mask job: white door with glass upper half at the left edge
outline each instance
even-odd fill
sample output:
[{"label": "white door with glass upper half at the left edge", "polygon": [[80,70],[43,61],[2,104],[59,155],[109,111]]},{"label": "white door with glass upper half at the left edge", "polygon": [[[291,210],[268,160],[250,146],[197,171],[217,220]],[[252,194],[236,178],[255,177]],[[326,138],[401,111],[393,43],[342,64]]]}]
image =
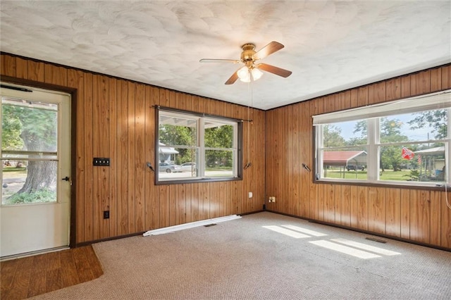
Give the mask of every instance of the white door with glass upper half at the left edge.
[{"label": "white door with glass upper half at the left edge", "polygon": [[70,94],[2,83],[0,108],[0,256],[68,246]]}]

